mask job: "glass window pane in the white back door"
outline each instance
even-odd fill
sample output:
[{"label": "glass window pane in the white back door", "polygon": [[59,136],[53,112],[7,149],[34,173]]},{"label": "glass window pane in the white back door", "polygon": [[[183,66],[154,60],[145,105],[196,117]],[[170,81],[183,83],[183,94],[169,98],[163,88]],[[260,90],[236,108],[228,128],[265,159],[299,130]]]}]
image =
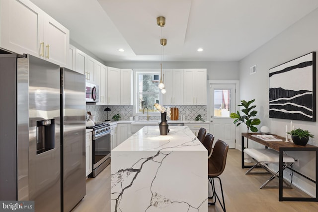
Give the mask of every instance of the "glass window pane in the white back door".
[{"label": "glass window pane in the white back door", "polygon": [[231,90],[214,90],[214,117],[230,117],[231,113]]}]

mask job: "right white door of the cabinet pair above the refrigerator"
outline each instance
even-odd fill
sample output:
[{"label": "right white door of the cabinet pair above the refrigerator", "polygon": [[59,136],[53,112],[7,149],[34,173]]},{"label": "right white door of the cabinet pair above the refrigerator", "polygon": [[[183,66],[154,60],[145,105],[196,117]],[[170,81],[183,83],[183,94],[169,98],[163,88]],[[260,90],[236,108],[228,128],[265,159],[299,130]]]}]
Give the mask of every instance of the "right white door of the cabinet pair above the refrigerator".
[{"label": "right white door of the cabinet pair above the refrigerator", "polygon": [[45,60],[65,67],[70,47],[70,31],[48,14],[44,14]]}]

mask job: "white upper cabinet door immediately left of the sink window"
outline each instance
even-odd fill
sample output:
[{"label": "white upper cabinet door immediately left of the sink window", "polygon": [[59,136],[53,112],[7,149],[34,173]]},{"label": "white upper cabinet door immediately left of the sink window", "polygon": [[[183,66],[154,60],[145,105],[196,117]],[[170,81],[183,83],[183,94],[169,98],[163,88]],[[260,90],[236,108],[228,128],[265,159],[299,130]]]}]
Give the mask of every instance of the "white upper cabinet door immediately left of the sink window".
[{"label": "white upper cabinet door immediately left of the sink window", "polygon": [[120,103],[121,105],[133,105],[133,70],[122,69],[120,76]]}]

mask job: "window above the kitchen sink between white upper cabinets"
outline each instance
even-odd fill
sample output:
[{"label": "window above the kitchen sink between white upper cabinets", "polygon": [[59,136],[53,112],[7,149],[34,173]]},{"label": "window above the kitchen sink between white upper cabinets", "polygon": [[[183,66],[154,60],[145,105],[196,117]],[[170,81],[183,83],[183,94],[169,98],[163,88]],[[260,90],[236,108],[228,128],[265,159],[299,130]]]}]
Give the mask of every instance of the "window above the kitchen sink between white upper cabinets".
[{"label": "window above the kitchen sink between white upper cabinets", "polygon": [[142,113],[144,107],[147,107],[149,112],[158,112],[154,104],[159,103],[160,98],[159,74],[159,72],[137,72],[137,113]]}]

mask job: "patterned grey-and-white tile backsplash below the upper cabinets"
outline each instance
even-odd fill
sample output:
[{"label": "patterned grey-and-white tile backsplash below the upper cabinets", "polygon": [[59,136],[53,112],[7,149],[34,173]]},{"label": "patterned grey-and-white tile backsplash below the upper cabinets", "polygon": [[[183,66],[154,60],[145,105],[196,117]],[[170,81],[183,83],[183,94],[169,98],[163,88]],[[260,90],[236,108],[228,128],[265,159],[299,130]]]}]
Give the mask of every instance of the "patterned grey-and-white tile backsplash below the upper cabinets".
[{"label": "patterned grey-and-white tile backsplash below the upper cabinets", "polygon": [[[95,115],[95,122],[102,122],[107,119],[107,112],[104,111],[106,107],[109,107],[111,111],[108,112],[108,119],[119,113],[120,120],[129,120],[129,117],[133,116],[133,106],[104,106],[104,105],[89,105],[86,104],[86,111],[90,111],[92,115]],[[204,120],[207,116],[207,106],[205,105],[189,105],[189,106],[165,106],[165,107],[177,107],[179,108],[179,120],[181,120],[182,115],[184,115],[185,120],[194,121],[197,115],[201,115]],[[146,116],[139,116],[139,120],[146,120]],[[151,116],[150,120],[159,120],[159,116]],[[135,120],[135,118],[134,118]],[[113,121],[113,120],[112,120]]]}]

